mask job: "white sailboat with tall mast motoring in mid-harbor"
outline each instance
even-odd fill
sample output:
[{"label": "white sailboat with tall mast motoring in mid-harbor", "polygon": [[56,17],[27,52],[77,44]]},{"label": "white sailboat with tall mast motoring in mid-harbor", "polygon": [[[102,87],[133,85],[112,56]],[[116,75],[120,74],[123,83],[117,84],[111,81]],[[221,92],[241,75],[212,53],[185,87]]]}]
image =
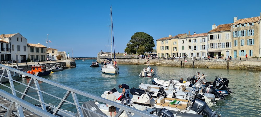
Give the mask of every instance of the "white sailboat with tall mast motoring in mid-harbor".
[{"label": "white sailboat with tall mast motoring in mid-harbor", "polygon": [[[107,58],[110,62],[107,64],[104,63],[104,66],[102,66],[101,70],[103,73],[108,74],[117,74],[119,73],[119,67],[116,64],[115,59],[115,50],[114,50],[114,35],[113,35],[113,25],[112,25],[112,12],[110,11],[110,18],[111,18],[111,58]],[[113,40],[113,53],[114,53],[114,61],[112,62],[112,40]]]}]

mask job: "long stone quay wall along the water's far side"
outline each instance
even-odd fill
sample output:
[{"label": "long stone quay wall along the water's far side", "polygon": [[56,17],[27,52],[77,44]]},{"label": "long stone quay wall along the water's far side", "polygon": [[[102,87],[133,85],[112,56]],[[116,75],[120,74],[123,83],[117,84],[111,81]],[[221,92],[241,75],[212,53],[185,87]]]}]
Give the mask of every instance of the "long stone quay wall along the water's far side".
[{"label": "long stone quay wall along the water's far side", "polygon": [[[110,56],[97,56],[99,63]],[[115,56],[117,64],[144,65],[146,59],[139,56]],[[108,61],[108,60],[106,60]],[[200,67],[200,68],[220,68],[238,70],[261,70],[261,60],[163,60],[149,59],[149,64],[155,66],[174,66],[174,67]]]}]

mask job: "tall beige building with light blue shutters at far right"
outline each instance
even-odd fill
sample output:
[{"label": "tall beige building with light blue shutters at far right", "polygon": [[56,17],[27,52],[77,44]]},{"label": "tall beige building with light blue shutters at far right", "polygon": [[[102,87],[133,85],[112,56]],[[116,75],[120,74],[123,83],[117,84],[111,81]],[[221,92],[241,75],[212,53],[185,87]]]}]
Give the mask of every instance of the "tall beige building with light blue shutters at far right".
[{"label": "tall beige building with light blue shutters at far right", "polygon": [[[260,13],[261,16],[261,13]],[[232,47],[234,58],[260,57],[260,16],[237,20],[234,17],[232,27]]]}]

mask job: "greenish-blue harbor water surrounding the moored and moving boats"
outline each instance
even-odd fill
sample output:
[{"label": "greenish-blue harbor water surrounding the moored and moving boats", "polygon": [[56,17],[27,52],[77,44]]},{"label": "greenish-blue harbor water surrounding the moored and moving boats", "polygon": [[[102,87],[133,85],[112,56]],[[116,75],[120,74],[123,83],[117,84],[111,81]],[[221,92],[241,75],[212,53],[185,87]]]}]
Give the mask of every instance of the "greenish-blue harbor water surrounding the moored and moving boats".
[{"label": "greenish-blue harbor water surrounding the moored and moving boats", "polygon": [[[79,90],[100,96],[104,91],[118,88],[119,84],[127,84],[130,88],[138,87],[140,83],[152,84],[153,78],[162,80],[183,78],[186,80],[192,77],[196,72],[204,73],[207,81],[214,81],[216,76],[228,78],[229,88],[233,93],[229,94],[224,100],[216,103],[211,107],[214,111],[222,116],[261,116],[261,72],[254,70],[227,70],[227,69],[209,69],[209,68],[190,68],[190,67],[166,67],[166,66],[150,66],[155,70],[152,78],[140,78],[139,73],[146,65],[123,65],[119,64],[119,74],[111,75],[101,72],[100,67],[90,67],[92,60],[76,60],[77,67],[69,68],[64,71],[54,72],[43,78],[67,85]],[[23,83],[27,83],[28,79],[21,79]],[[15,84],[16,87],[19,84]],[[45,87],[45,84],[39,83],[43,91],[55,91],[59,97],[63,97],[66,91],[62,91],[52,87]],[[29,92],[30,93],[30,92]],[[37,95],[37,94],[36,94]],[[86,97],[77,97],[79,102],[91,100]],[[48,100],[49,99],[49,100]],[[68,98],[68,100],[72,100]],[[55,104],[59,103],[52,98],[45,99],[45,102]],[[63,109],[69,111],[72,107],[63,106]]]}]

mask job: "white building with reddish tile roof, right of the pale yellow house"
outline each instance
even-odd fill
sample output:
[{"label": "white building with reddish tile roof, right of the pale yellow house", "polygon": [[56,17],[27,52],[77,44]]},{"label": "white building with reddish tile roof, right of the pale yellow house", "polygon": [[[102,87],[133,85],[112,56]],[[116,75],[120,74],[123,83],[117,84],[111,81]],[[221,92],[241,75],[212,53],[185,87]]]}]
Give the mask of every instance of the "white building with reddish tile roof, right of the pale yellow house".
[{"label": "white building with reddish tile roof, right of the pale yellow house", "polygon": [[188,57],[204,58],[207,54],[207,33],[200,33],[186,38],[187,47],[184,49]]}]

